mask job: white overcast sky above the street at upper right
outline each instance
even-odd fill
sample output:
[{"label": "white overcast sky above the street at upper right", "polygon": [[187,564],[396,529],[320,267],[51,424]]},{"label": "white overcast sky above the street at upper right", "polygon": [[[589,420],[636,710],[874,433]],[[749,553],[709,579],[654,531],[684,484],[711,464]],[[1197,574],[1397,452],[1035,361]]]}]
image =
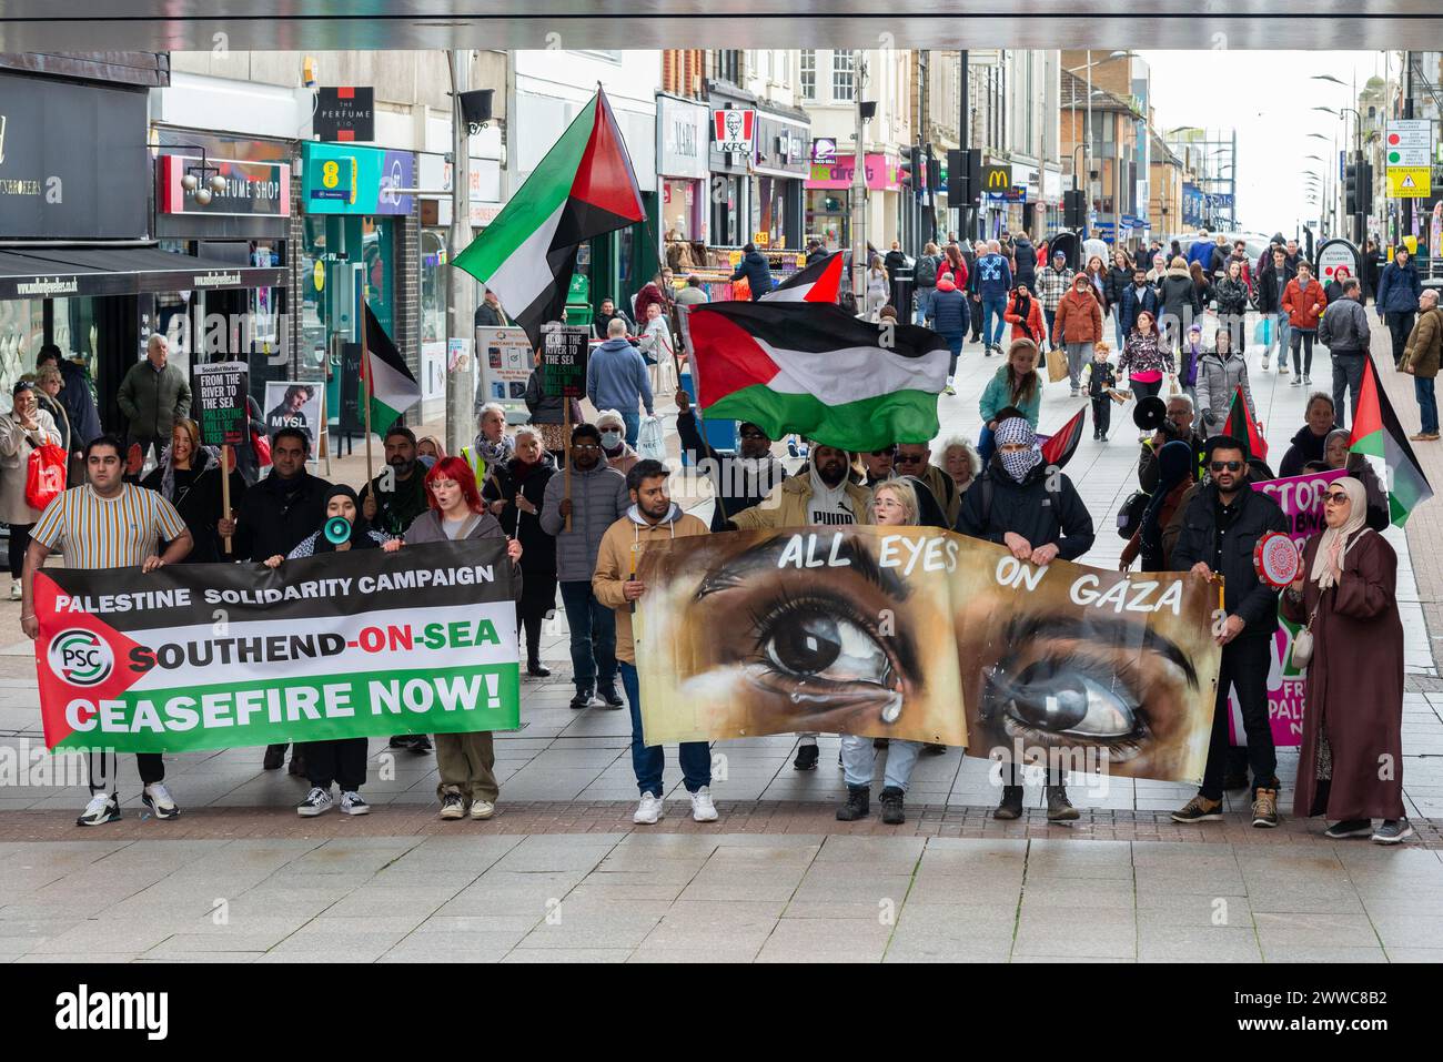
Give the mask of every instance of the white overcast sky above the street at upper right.
[{"label": "white overcast sky above the street at upper right", "polygon": [[[1303,172],[1323,172],[1326,163],[1309,159],[1338,154],[1354,134],[1313,107],[1356,107],[1351,88],[1312,81],[1330,74],[1339,81],[1364,82],[1385,76],[1381,52],[1140,52],[1152,68],[1157,128],[1202,126],[1238,131],[1238,225],[1291,235],[1299,219],[1313,219],[1317,209],[1304,203]],[[1394,78],[1397,71],[1394,71]],[[1322,133],[1328,141],[1309,137]],[[1329,180],[1333,177],[1330,176]]]}]

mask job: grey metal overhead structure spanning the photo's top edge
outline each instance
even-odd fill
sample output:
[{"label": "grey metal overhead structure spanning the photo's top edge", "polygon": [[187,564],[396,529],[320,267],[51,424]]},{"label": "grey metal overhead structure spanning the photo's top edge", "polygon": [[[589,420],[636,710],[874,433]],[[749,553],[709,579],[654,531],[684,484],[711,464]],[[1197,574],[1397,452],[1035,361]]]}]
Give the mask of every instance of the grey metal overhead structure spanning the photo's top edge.
[{"label": "grey metal overhead structure spanning the photo's top edge", "polygon": [[[723,10],[719,10],[723,9]],[[1437,49],[1436,0],[0,0],[0,52]],[[222,36],[224,35],[224,36]]]}]

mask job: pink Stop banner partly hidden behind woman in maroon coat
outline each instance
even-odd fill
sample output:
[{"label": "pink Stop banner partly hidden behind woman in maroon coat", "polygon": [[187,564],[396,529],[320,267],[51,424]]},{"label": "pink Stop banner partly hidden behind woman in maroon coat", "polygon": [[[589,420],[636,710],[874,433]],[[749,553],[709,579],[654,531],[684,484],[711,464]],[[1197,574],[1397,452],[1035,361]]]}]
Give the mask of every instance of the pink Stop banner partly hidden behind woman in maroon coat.
[{"label": "pink Stop banner partly hidden behind woman in maroon coat", "polygon": [[[1287,534],[1302,553],[1303,544],[1323,530],[1323,493],[1335,479],[1346,475],[1345,469],[1310,472],[1287,479],[1266,479],[1253,483],[1253,489],[1278,504],[1287,517]],[[1290,659],[1293,636],[1300,628],[1284,619],[1281,612],[1277,619],[1267,670],[1267,714],[1273,723],[1273,745],[1283,747],[1303,742],[1303,672]],[[1242,707],[1232,690],[1228,691],[1228,736],[1234,745],[1247,745]]]}]

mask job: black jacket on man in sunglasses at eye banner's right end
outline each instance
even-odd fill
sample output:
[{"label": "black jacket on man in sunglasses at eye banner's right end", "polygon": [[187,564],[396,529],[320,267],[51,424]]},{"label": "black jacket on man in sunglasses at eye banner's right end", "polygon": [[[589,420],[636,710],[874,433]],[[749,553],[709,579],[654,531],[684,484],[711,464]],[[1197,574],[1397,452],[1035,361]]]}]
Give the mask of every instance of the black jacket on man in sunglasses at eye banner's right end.
[{"label": "black jacket on man in sunglasses at eye banner's right end", "polygon": [[1277,631],[1277,590],[1258,582],[1257,569],[1253,567],[1253,551],[1266,532],[1286,532],[1289,524],[1277,502],[1247,483],[1242,485],[1238,498],[1242,508],[1224,535],[1219,564],[1218,488],[1214,483],[1198,488],[1183,511],[1182,534],[1173,547],[1169,566],[1175,571],[1186,571],[1198,561],[1203,561],[1221,574],[1222,607],[1228,615],[1240,616],[1247,623],[1238,638],[1264,638]]}]

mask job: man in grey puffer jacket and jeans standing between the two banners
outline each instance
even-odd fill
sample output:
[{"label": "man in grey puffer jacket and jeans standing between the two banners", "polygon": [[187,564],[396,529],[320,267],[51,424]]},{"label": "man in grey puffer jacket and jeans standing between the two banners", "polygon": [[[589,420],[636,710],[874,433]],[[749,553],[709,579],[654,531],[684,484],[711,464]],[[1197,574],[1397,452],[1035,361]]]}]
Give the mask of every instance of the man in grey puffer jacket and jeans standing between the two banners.
[{"label": "man in grey puffer jacket and jeans standing between the two banners", "polygon": [[541,504],[541,530],[556,538],[556,576],[571,631],[576,710],[589,707],[593,697],[606,708],[622,707],[616,693],[616,622],[592,593],[592,573],[602,535],[629,505],[626,476],[602,460],[602,433],[595,424],[579,424],[571,431],[570,485],[564,473],[551,476]]}]

